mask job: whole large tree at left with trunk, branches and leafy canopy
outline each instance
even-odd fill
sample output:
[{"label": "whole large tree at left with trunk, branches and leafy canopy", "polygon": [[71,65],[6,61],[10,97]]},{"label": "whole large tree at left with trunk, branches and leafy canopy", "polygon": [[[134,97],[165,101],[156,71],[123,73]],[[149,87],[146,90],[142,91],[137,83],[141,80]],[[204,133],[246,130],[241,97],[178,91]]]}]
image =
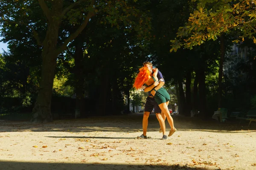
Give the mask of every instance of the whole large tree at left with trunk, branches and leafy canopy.
[{"label": "whole large tree at left with trunk, branches and leafy canopy", "polygon": [[[41,81],[33,109],[32,122],[52,121],[50,105],[55,66],[57,65],[56,59],[87,26],[91,17],[97,15],[97,12],[105,11],[106,17],[102,22],[117,26],[117,20],[122,20],[127,25],[127,30],[132,29],[134,22],[131,22],[131,18],[135,17],[143,22],[137,9],[128,6],[126,1],[119,0],[108,2],[96,0],[24,0],[11,3],[9,0],[3,0],[0,7],[3,29],[8,30],[19,24],[27,26],[38,45],[41,46]],[[119,11],[125,11],[127,15],[119,15]],[[64,21],[79,25],[79,27],[76,31],[67,32],[62,27]],[[14,25],[10,26],[11,24]],[[45,29],[41,29],[41,27]]]}]

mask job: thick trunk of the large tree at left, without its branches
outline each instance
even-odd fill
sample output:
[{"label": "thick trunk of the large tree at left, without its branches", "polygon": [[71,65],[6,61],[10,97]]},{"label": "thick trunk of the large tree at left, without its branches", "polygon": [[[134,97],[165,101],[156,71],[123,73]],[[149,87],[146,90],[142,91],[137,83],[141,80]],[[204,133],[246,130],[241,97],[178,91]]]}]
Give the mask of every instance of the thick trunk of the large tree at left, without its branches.
[{"label": "thick trunk of the large tree at left, without its branches", "polygon": [[32,122],[51,122],[51,101],[52,101],[52,86],[53,79],[55,76],[55,67],[57,64],[57,40],[59,21],[52,19],[49,23],[49,27],[44,40],[44,48],[42,51],[42,69],[41,69],[41,80],[39,84],[38,96],[33,108]]}]

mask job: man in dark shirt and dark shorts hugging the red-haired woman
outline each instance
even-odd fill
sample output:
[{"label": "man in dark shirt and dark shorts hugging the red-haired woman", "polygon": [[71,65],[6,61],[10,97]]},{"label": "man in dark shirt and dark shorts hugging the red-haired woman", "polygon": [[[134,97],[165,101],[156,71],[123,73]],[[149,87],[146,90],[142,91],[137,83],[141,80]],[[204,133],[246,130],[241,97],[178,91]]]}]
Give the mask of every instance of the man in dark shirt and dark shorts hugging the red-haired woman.
[{"label": "man in dark shirt and dark shorts hugging the red-haired woman", "polygon": [[[143,65],[144,65],[144,67],[147,67],[148,70],[150,71],[150,73],[152,74],[152,68],[153,68],[152,63],[144,62]],[[142,87],[145,92],[148,92],[148,97],[146,99],[146,103],[145,103],[145,107],[144,107],[144,114],[143,114],[143,122],[142,122],[143,134],[140,136],[137,136],[137,138],[139,138],[139,139],[147,139],[148,116],[151,113],[151,111],[153,110],[153,108],[156,113],[157,119],[159,121],[160,127],[163,131],[162,139],[167,139],[166,127],[165,127],[163,117],[161,116],[161,109],[159,108],[159,106],[157,105],[157,102],[154,99],[154,95],[155,95],[156,91],[158,89],[162,88],[165,83],[165,81],[163,79],[163,75],[160,71],[158,71],[158,73],[157,73],[157,78],[159,81],[154,82],[153,85],[150,85],[148,87],[146,87],[146,86]],[[152,91],[153,88],[156,91]]]}]

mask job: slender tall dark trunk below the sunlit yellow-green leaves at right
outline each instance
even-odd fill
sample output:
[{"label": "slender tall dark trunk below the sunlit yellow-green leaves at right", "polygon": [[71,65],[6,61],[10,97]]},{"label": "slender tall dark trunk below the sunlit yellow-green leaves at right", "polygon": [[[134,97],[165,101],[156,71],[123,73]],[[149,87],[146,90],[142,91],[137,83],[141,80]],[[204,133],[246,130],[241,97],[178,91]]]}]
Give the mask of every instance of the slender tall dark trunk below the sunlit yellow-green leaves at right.
[{"label": "slender tall dark trunk below the sunlit yellow-green leaves at right", "polygon": [[219,63],[219,72],[218,72],[218,108],[221,108],[221,98],[222,98],[222,74],[223,74],[223,62],[224,62],[224,34],[221,35],[221,57]]}]

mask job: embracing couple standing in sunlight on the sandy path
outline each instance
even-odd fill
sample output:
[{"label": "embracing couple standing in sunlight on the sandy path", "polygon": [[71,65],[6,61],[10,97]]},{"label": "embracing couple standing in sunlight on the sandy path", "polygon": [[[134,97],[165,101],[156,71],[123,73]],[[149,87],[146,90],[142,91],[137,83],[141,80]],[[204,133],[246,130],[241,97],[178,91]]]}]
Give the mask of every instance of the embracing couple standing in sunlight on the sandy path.
[{"label": "embracing couple standing in sunlight on the sandy path", "polygon": [[[147,139],[147,127],[148,127],[148,116],[151,111],[155,110],[157,119],[160,124],[159,132],[163,132],[162,139],[167,139],[165,119],[167,118],[171,130],[169,131],[168,136],[172,136],[173,133],[177,130],[174,127],[172,116],[170,115],[168,104],[170,100],[170,95],[163,88],[164,79],[163,75],[157,68],[153,68],[151,62],[144,62],[143,67],[140,68],[140,72],[137,74],[134,82],[134,88],[142,88],[145,92],[148,92],[148,97],[146,99],[144,115],[143,115],[143,134],[137,136],[139,139]],[[161,114],[162,112],[162,114]]]}]

